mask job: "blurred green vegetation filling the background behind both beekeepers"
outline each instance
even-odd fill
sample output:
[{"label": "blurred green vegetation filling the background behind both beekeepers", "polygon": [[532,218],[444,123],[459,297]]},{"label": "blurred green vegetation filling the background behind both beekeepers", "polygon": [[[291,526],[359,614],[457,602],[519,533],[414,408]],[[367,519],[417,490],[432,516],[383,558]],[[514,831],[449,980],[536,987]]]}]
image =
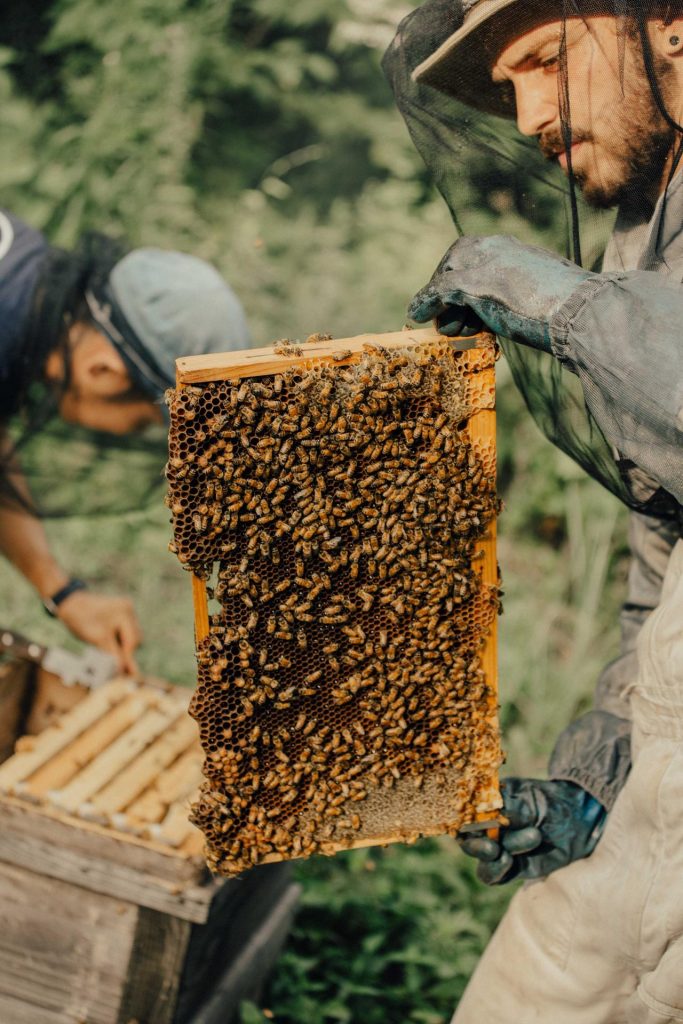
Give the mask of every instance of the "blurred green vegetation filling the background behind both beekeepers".
[{"label": "blurred green vegetation filling the background behind both beekeepers", "polygon": [[[213,261],[256,344],[396,330],[454,237],[380,70],[409,9],[5,0],[0,205],[67,247],[97,228]],[[514,231],[496,176],[488,195],[480,167],[463,173],[482,226]],[[507,770],[532,774],[615,653],[624,516],[541,438],[503,362],[499,415],[502,722]],[[162,497],[95,518],[75,501],[48,529],[70,571],[135,598],[143,668],[190,686],[189,581],[166,552]],[[3,623],[69,644],[8,566],[0,605]],[[480,887],[452,841],[297,872],[297,925],[245,1024],[445,1022],[509,898]]]}]

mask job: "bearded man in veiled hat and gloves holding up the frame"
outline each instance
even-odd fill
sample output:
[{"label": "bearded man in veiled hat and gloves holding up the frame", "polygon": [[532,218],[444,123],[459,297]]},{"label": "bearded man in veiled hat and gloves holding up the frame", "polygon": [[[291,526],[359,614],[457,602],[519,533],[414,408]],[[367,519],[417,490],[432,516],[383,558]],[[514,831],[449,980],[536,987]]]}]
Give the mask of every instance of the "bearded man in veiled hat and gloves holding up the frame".
[{"label": "bearded man in veiled hat and gloves holding up the frame", "polygon": [[483,881],[529,882],[455,1021],[683,1021],[683,4],[429,0],[385,67],[458,225],[478,160],[524,242],[564,211],[571,257],[497,236],[482,183],[479,237],[410,314],[496,332],[541,427],[633,510],[595,710],[549,780],[506,780],[500,843],[463,842]]}]

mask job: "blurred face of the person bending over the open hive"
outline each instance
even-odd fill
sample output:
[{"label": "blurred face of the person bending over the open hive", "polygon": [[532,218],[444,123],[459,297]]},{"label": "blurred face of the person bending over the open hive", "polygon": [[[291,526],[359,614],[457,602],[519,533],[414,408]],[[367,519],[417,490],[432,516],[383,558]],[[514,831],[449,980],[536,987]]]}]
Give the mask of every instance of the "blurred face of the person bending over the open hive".
[{"label": "blurred face of the person bending over the open hive", "polygon": [[89,324],[69,331],[70,366],[49,354],[45,376],[58,389],[59,416],[67,423],[111,434],[137,433],[162,423],[159,406],[135,392],[126,365],[108,338]]}]

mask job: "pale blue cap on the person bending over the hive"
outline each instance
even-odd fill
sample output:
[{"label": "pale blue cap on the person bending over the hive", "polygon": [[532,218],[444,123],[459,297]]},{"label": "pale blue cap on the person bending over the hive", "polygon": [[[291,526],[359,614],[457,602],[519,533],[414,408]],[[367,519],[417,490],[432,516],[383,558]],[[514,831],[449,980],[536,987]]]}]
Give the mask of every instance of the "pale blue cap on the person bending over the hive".
[{"label": "pale blue cap on the person bending over the hive", "polygon": [[234,292],[210,263],[185,253],[134,249],[98,293],[86,292],[86,301],[134,384],[155,401],[175,384],[180,356],[250,345]]}]

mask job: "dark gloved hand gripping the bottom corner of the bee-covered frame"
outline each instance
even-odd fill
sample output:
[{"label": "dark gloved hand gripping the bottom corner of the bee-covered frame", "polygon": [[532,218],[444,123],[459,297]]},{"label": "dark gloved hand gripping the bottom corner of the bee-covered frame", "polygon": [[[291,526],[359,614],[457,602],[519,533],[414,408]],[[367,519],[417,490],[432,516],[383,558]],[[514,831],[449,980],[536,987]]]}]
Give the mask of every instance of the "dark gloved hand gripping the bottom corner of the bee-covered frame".
[{"label": "dark gloved hand gripping the bottom corner of the bee-covered frame", "polygon": [[513,879],[540,879],[592,853],[607,811],[574,782],[506,778],[503,813],[510,824],[500,842],[466,836],[460,846],[480,861],[477,874],[495,886]]}]

